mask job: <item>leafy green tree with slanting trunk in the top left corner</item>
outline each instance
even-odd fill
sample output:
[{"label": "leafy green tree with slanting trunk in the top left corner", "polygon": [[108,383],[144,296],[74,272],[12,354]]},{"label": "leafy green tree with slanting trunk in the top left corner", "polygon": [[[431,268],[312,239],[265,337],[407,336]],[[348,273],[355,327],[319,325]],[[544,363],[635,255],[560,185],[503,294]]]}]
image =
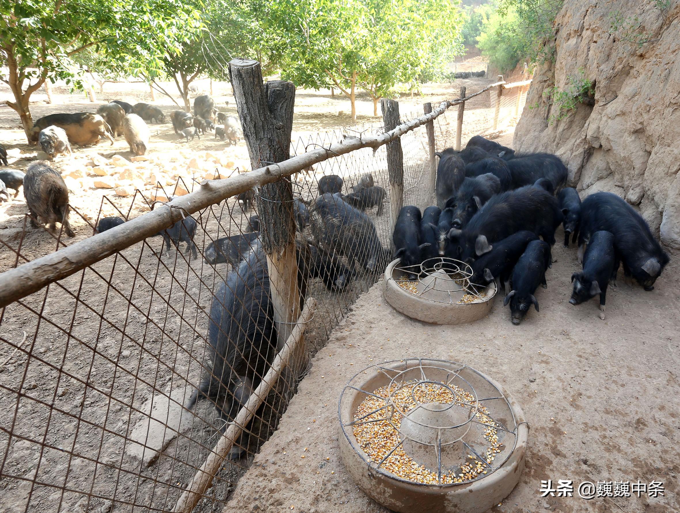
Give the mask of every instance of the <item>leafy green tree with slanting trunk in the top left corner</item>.
[{"label": "leafy green tree with slanting trunk in the top left corner", "polygon": [[199,16],[181,0],[0,0],[0,58],[12,89],[7,102],[29,137],[29,99],[46,80],[78,84],[73,57],[91,48],[112,67],[143,62],[158,69],[163,52],[180,52]]}]

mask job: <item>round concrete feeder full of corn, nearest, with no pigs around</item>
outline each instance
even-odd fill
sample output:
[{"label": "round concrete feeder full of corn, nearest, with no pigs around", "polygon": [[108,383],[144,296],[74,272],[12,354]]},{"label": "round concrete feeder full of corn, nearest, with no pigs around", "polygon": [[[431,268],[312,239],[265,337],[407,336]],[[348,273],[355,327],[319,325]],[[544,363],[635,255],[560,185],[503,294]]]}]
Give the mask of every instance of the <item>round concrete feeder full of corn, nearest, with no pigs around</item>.
[{"label": "round concrete feeder full of corn, nearest, with no pigs around", "polygon": [[[432,393],[449,402],[432,402]],[[367,403],[370,411],[358,413]],[[371,365],[343,389],[339,420],[347,471],[366,495],[396,512],[486,512],[509,495],[524,469],[528,425],[520,406],[503,386],[460,363],[413,358]],[[364,448],[371,452],[374,440],[392,440],[394,448],[371,456]],[[430,482],[390,470],[405,459],[423,465]],[[466,474],[471,461],[481,471]]]}]

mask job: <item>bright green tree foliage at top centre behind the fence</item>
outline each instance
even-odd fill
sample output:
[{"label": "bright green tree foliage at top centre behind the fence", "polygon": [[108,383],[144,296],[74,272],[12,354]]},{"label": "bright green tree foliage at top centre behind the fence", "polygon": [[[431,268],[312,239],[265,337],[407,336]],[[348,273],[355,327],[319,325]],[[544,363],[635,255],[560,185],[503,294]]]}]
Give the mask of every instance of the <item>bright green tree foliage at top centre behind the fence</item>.
[{"label": "bright green tree foliage at top centre behind the fence", "polygon": [[273,0],[267,33],[279,37],[282,76],[311,88],[334,86],[350,99],[356,88],[377,103],[395,84],[462,51],[460,14],[449,0]]}]

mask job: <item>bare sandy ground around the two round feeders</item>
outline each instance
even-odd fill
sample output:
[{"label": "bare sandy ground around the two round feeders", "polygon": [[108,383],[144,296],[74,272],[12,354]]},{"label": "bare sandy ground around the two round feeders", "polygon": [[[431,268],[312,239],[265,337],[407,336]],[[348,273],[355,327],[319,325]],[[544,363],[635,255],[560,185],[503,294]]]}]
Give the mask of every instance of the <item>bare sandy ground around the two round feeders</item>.
[{"label": "bare sandy ground around the two round feeders", "polygon": [[[386,511],[343,467],[337,404],[360,369],[405,357],[466,363],[502,383],[522,406],[530,426],[524,475],[491,511],[680,511],[679,255],[651,293],[624,284],[619,274],[618,288],[607,294],[607,318],[600,320],[595,299],[568,303],[569,277],[579,269],[575,254],[573,247],[554,246],[548,288],[537,291],[541,312],[531,310],[520,326],[511,324],[500,295],[490,314],[471,325],[428,325],[396,312],[382,297],[382,282],[375,284],[313,359],[279,430],[224,511]],[[542,498],[547,479],[656,480],[666,492],[640,499]]]}]

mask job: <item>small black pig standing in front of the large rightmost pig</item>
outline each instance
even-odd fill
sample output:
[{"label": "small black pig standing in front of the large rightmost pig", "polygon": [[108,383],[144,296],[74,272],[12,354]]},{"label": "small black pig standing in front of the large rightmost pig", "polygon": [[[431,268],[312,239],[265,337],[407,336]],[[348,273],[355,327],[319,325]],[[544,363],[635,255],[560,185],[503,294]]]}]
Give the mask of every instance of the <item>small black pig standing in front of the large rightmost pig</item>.
[{"label": "small black pig standing in front of the large rightmost pig", "polygon": [[607,284],[616,284],[619,259],[614,249],[614,235],[608,231],[596,231],[590,236],[588,248],[583,255],[583,271],[571,275],[574,284],[569,303],[580,305],[583,301],[600,295],[600,319],[605,320]]}]

